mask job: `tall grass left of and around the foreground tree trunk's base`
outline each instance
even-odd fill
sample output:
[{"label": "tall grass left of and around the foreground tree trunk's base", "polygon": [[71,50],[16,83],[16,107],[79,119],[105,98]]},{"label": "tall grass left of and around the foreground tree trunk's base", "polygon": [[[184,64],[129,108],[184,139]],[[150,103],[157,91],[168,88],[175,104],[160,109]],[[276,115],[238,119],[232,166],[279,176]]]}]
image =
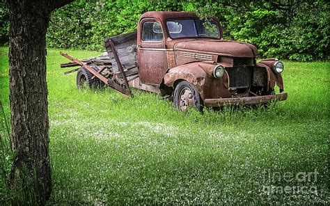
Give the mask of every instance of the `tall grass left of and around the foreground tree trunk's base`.
[{"label": "tall grass left of and around the foreground tree trunk's base", "polygon": [[[8,86],[3,87],[1,72],[0,70],[0,205],[45,205],[45,203],[40,204],[40,198],[33,187],[33,184],[36,184],[36,174],[28,175],[29,172],[24,165],[20,165],[13,172],[12,163],[15,153],[10,142],[10,113],[8,112],[8,96],[6,97],[8,93],[3,93],[8,90]],[[6,104],[3,105],[3,102]]]}]

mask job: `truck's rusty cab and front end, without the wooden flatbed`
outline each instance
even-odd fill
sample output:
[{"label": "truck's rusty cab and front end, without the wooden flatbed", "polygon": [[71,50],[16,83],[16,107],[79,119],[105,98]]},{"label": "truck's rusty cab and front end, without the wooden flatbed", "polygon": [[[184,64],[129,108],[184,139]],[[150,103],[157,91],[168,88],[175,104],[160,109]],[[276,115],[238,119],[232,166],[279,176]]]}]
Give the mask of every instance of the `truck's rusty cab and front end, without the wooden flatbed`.
[{"label": "truck's rusty cab and front end, without the wooden flatbed", "polygon": [[[139,19],[139,79],[132,85],[173,99],[180,111],[189,106],[258,104],[286,100],[276,58],[256,62],[255,46],[223,40],[217,18],[195,13],[153,11]],[[280,93],[274,94],[274,87]]]}]

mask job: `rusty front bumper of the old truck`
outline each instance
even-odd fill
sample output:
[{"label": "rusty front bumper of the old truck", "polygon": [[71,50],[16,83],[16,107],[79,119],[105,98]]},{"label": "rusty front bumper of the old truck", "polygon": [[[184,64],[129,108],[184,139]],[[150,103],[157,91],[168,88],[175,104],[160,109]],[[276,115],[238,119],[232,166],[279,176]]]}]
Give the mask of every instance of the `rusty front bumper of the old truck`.
[{"label": "rusty front bumper of the old truck", "polygon": [[263,104],[271,101],[283,101],[288,99],[288,93],[281,93],[278,95],[265,95],[256,97],[235,97],[235,98],[221,98],[221,99],[205,99],[205,106],[223,106],[223,105],[249,105],[249,104]]}]

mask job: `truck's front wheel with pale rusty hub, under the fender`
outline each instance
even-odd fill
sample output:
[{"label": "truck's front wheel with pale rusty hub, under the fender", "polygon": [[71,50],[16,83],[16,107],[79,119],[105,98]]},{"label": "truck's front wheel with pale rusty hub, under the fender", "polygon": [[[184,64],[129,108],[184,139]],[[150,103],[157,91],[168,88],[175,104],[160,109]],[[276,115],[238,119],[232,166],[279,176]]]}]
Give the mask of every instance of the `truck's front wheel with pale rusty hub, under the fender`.
[{"label": "truck's front wheel with pale rusty hub, under the fender", "polygon": [[188,81],[181,81],[174,90],[174,104],[180,111],[187,111],[189,106],[203,111],[203,100],[196,87]]}]

